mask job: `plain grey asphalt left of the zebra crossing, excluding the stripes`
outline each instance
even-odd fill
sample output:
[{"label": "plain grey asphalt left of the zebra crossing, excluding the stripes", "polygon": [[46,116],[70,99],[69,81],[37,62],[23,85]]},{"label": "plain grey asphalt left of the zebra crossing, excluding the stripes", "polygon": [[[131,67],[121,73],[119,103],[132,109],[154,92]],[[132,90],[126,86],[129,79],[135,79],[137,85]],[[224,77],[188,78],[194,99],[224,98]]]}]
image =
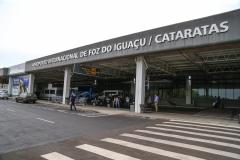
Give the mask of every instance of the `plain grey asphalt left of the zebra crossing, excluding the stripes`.
[{"label": "plain grey asphalt left of the zebra crossing, excluding the stripes", "polygon": [[148,122],[146,119],[0,100],[0,153],[78,136],[98,138]]}]

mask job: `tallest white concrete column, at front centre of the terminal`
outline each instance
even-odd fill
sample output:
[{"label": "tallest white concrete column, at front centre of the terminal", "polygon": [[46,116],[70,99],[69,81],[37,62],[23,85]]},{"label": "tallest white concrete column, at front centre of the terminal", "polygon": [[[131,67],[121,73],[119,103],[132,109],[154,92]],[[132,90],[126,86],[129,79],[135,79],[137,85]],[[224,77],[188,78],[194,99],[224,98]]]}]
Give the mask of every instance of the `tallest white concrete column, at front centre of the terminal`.
[{"label": "tallest white concrete column, at front centre of the terminal", "polygon": [[145,101],[146,64],[144,57],[136,58],[135,112],[140,113],[140,104]]}]

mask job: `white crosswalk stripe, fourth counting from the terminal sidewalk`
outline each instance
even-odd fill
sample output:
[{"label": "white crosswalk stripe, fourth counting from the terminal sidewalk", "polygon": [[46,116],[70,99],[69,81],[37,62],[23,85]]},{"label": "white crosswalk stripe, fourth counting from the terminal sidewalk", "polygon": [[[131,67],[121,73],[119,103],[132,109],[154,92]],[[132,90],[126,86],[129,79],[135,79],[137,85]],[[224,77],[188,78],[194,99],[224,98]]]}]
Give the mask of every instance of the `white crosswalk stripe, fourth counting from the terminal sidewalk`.
[{"label": "white crosswalk stripe, fourth counting from the terminal sidewalk", "polygon": [[169,129],[169,128],[160,128],[160,127],[146,127],[149,129],[156,129],[161,131],[171,131],[171,132],[178,132],[178,133],[186,133],[191,135],[198,135],[198,136],[204,136],[204,137],[213,137],[213,138],[219,138],[219,139],[225,139],[225,140],[231,140],[231,141],[237,141],[240,142],[239,138],[232,138],[232,137],[226,137],[226,136],[218,136],[213,134],[207,134],[207,133],[198,133],[198,132],[190,132],[190,131],[183,131],[178,129]]}]

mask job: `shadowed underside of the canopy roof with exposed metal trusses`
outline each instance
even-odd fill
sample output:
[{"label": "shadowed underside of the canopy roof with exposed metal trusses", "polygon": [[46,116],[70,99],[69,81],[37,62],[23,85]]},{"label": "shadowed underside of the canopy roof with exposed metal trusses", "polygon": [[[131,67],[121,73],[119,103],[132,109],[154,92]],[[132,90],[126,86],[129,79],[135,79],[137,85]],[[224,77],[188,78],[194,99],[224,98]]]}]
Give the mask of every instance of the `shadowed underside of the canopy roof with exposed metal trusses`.
[{"label": "shadowed underside of the canopy roof with exposed metal trusses", "polygon": [[[240,73],[240,42],[207,47],[156,52],[144,56],[148,66],[147,76],[150,80],[172,79],[191,75],[195,80],[206,79],[239,79]],[[132,80],[135,77],[135,57],[86,62],[71,65],[72,81],[89,83],[94,79]],[[81,70],[77,70],[80,67]],[[94,69],[94,73],[91,70]],[[36,79],[43,82],[63,81],[64,67],[37,72]],[[38,80],[37,80],[38,81]]]}]

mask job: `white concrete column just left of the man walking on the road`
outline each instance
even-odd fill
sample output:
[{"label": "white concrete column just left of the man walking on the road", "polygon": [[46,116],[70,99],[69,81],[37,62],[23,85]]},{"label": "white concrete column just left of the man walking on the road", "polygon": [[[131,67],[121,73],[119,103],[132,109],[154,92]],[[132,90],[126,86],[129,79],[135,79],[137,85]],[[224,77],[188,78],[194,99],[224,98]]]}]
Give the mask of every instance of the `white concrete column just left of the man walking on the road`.
[{"label": "white concrete column just left of the man walking on the road", "polygon": [[71,67],[66,67],[64,70],[64,84],[63,84],[63,101],[66,104],[66,98],[69,98],[69,90],[71,84]]}]

